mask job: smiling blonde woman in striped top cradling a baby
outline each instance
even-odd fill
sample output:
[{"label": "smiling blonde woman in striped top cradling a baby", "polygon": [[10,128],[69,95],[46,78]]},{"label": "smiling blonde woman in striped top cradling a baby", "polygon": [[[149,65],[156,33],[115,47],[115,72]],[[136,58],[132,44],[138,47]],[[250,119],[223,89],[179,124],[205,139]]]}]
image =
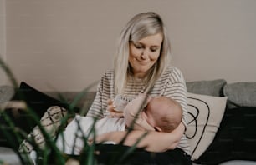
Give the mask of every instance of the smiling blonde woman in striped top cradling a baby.
[{"label": "smiling blonde woman in striped top cradling a baby", "polygon": [[[115,56],[115,68],[105,72],[97,87],[95,101],[87,113],[88,117],[123,117],[116,112],[111,101],[117,94],[136,97],[140,93],[151,97],[165,96],[182,106],[182,122],[172,133],[133,130],[125,138],[122,148],[137,143],[138,153],[131,155],[126,163],[131,164],[192,164],[187,138],[184,134],[187,117],[187,88],[182,72],[170,66],[170,45],[166,28],[156,13],[140,13],[128,22],[121,32]],[[97,142],[120,143],[126,132],[105,133],[96,138]],[[141,149],[142,148],[142,149]],[[100,163],[110,161],[110,155],[120,149],[120,145],[98,146]],[[152,154],[154,157],[151,157]]]}]

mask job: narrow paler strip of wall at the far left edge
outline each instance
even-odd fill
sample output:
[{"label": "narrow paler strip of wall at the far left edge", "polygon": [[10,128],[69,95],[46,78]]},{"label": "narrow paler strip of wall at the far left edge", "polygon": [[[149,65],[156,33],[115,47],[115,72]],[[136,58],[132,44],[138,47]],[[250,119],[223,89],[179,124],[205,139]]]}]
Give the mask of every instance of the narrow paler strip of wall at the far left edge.
[{"label": "narrow paler strip of wall at the far left edge", "polygon": [[[5,0],[0,0],[0,57],[6,60]],[[0,86],[7,84],[6,74],[0,66]]]}]

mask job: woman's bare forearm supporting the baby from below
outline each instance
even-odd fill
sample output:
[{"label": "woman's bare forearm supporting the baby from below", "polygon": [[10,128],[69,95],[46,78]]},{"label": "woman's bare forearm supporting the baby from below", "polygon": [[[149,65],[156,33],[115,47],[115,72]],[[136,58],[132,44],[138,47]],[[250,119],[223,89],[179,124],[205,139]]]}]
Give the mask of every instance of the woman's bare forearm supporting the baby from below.
[{"label": "woman's bare forearm supporting the baby from below", "polygon": [[[172,131],[172,133],[163,133],[151,131],[145,135],[145,131],[133,130],[129,133],[125,139],[124,145],[133,146],[141,138],[141,141],[136,145],[137,148],[145,148],[150,152],[163,152],[168,149],[174,149],[182,138],[182,134],[185,131],[185,127],[182,123]],[[105,141],[113,141],[120,143],[125,138],[126,131],[117,131],[105,133],[97,136],[96,142],[101,143]]]}]

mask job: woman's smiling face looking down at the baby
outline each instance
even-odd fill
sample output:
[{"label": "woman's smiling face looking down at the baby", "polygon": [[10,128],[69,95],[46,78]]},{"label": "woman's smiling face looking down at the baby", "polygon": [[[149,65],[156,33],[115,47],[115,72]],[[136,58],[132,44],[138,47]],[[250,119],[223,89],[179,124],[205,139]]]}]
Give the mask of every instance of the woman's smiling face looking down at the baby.
[{"label": "woman's smiling face looking down at the baby", "polygon": [[138,42],[130,42],[129,62],[135,77],[144,77],[156,63],[161,51],[163,37],[157,33],[144,37]]}]

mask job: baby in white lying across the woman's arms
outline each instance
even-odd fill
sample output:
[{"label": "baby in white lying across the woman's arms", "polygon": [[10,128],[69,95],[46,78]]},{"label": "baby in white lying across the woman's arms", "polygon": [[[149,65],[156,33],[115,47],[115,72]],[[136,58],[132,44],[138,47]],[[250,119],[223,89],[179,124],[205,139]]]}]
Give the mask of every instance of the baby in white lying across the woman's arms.
[{"label": "baby in white lying across the woman's arms", "polygon": [[[182,121],[182,107],[168,97],[146,97],[141,94],[126,103],[123,112],[124,117],[104,117],[97,121],[92,117],[77,115],[65,129],[64,139],[58,138],[57,146],[64,150],[64,153],[79,154],[84,147],[83,134],[92,138],[94,133],[100,135],[112,131],[125,131],[127,128],[169,133]],[[90,133],[94,123],[95,132]]]}]

